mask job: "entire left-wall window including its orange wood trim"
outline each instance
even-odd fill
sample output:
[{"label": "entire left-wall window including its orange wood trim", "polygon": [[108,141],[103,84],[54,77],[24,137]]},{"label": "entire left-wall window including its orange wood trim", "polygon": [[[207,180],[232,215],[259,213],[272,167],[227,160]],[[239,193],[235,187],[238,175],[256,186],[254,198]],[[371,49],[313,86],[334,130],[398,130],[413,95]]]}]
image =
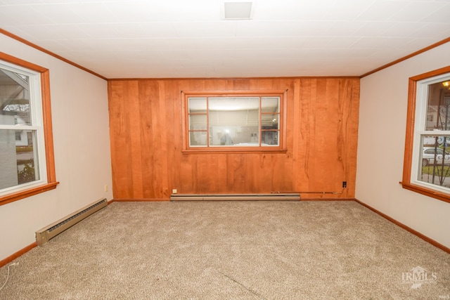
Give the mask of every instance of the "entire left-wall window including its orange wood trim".
[{"label": "entire left-wall window including its orange wood trim", "polygon": [[0,205],[56,188],[49,70],[0,53]]}]

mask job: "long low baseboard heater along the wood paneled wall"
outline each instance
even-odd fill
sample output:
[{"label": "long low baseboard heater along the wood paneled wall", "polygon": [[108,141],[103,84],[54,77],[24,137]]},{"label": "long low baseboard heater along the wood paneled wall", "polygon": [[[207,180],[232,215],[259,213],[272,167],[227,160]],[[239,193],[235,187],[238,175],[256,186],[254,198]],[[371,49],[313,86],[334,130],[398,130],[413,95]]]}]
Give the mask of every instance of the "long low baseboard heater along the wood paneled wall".
[{"label": "long low baseboard heater along the wood paneled wall", "polygon": [[286,194],[216,194],[216,195],[198,195],[198,194],[172,194],[170,195],[170,201],[269,201],[269,200],[300,200],[300,194],[298,193],[286,193]]}]

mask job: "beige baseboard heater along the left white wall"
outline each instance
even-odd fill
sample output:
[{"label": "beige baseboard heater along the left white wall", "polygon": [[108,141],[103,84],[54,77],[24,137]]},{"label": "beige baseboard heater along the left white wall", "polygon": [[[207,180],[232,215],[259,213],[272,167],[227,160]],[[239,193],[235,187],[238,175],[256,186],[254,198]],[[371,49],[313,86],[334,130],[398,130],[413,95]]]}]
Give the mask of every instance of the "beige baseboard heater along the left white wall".
[{"label": "beige baseboard heater along the left white wall", "polygon": [[75,211],[73,214],[65,216],[65,218],[56,221],[55,223],[51,223],[49,226],[42,228],[36,232],[36,242],[39,246],[49,242],[53,237],[62,233],[64,230],[74,226],[79,221],[86,219],[91,214],[94,214],[96,211],[103,209],[108,205],[108,200],[102,199],[94,202],[92,204],[83,207]]}]

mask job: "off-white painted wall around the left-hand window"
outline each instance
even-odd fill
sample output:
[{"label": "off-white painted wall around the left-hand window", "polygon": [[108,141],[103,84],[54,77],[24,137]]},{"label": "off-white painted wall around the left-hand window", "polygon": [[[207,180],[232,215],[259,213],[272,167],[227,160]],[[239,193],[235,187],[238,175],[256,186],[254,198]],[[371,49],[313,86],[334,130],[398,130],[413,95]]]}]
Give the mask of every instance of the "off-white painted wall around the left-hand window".
[{"label": "off-white painted wall around the left-hand window", "polygon": [[0,206],[2,260],[35,242],[36,230],[103,197],[111,200],[113,193],[107,82],[3,34],[0,51],[50,70],[60,181],[55,190]]}]

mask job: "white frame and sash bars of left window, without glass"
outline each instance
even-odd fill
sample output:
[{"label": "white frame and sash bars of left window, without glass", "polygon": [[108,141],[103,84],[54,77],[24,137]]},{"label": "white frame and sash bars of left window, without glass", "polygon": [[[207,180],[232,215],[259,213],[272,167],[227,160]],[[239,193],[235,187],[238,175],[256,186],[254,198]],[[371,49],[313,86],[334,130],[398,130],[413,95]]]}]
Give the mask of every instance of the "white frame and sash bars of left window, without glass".
[{"label": "white frame and sash bars of left window, without glass", "polygon": [[12,63],[0,60],[0,68],[10,72],[23,74],[28,77],[29,93],[30,93],[30,120],[31,125],[4,125],[0,124],[0,130],[14,131],[33,131],[34,135],[34,158],[37,162],[34,164],[34,171],[39,174],[39,179],[29,183],[22,183],[11,186],[9,188],[0,189],[0,196],[9,193],[17,193],[21,190],[34,188],[47,182],[46,172],[46,149],[44,139],[44,122],[42,117],[42,93],[41,93],[41,74],[25,67],[20,67]]}]

